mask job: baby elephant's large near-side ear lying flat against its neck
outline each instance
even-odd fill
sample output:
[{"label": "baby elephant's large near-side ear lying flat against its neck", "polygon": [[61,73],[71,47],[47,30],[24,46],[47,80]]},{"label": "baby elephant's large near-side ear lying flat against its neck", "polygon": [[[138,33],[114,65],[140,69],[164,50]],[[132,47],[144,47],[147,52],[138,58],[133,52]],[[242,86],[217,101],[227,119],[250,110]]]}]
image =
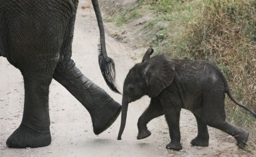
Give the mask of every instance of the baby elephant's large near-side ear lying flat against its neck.
[{"label": "baby elephant's large near-side ear lying flat against its neck", "polygon": [[166,54],[156,55],[145,68],[148,96],[158,96],[174,80],[175,64]]}]

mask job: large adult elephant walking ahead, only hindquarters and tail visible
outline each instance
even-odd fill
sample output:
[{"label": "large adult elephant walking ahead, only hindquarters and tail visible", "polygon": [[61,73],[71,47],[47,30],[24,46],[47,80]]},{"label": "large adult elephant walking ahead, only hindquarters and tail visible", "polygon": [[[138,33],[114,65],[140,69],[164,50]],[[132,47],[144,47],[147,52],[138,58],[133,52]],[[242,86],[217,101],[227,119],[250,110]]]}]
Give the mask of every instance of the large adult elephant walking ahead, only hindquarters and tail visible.
[{"label": "large adult elephant walking ahead, only hindquarters and tail visible", "polygon": [[[114,63],[106,55],[98,1],[92,1],[100,29],[98,61],[111,90]],[[22,123],[7,139],[14,148],[44,147],[51,142],[49,85],[57,80],[89,111],[94,133],[105,131],[121,105],[87,79],[71,59],[78,0],[0,0],[0,56],[23,75],[25,102]]]}]

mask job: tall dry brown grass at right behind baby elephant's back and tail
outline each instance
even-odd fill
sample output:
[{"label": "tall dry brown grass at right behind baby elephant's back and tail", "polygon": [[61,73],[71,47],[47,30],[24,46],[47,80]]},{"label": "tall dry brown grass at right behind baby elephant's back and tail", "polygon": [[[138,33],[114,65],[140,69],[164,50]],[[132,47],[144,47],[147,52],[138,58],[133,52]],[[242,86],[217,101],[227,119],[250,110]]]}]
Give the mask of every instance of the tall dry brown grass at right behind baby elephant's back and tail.
[{"label": "tall dry brown grass at right behind baby elephant's back and tail", "polygon": [[[198,23],[187,29],[191,58],[209,59],[226,75],[236,99],[256,111],[256,2],[204,1]],[[256,122],[227,99],[228,118],[250,131],[247,151],[255,151]]]}]

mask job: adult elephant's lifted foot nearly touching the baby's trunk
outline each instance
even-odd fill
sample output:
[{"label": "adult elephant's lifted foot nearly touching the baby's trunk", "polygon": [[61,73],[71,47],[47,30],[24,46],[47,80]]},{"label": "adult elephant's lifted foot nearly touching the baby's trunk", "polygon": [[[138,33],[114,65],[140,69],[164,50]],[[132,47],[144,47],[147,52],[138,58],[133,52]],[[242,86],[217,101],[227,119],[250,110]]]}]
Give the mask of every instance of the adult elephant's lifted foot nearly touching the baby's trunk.
[{"label": "adult elephant's lifted foot nearly touching the baby's trunk", "polygon": [[108,129],[114,123],[121,112],[121,105],[113,99],[103,105],[97,106],[95,110],[90,110],[94,134],[98,135]]}]

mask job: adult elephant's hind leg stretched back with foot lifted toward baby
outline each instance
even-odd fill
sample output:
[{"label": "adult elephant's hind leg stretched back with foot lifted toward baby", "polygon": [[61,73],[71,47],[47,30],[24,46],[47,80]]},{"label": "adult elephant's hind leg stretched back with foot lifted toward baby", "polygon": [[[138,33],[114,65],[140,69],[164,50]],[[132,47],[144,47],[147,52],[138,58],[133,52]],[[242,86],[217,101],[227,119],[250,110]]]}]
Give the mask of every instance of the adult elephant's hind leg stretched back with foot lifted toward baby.
[{"label": "adult elephant's hind leg stretched back with foot lifted toward baby", "polygon": [[54,79],[89,111],[95,134],[100,134],[111,126],[121,112],[121,105],[87,79],[70,58],[65,58],[57,66]]}]

